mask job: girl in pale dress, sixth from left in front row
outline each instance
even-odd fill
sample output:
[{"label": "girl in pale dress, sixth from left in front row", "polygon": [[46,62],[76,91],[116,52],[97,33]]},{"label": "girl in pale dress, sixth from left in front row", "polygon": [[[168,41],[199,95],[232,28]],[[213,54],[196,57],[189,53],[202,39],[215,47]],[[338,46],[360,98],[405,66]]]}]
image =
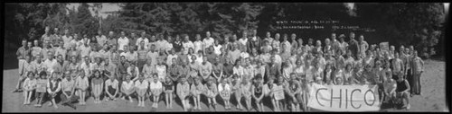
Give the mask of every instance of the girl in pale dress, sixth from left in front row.
[{"label": "girl in pale dress, sixth from left in front row", "polygon": [[94,77],[91,79],[91,85],[94,94],[94,103],[100,103],[100,95],[102,94],[104,81],[102,77],[100,77],[99,70],[94,70]]}]

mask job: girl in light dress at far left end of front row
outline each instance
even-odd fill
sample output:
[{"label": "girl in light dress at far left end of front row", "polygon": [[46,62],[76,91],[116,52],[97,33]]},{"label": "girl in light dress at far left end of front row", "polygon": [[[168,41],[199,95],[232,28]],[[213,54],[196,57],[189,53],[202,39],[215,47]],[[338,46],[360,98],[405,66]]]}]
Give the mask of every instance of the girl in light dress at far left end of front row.
[{"label": "girl in light dress at far left end of front row", "polygon": [[33,91],[36,88],[36,80],[33,72],[28,72],[27,78],[24,81],[24,104],[30,104]]}]

